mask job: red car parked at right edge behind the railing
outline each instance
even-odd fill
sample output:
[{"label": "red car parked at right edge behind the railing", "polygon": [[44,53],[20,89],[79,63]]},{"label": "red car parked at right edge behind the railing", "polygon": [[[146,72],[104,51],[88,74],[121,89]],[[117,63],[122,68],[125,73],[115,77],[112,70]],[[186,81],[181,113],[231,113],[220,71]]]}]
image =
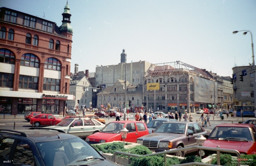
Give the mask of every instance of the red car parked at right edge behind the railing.
[{"label": "red car parked at right edge behind the railing", "polygon": [[[206,135],[204,146],[238,150],[240,154],[256,154],[255,132],[256,127],[253,124],[220,124],[209,136]],[[202,156],[208,156],[216,152],[200,150],[199,153]]]}]

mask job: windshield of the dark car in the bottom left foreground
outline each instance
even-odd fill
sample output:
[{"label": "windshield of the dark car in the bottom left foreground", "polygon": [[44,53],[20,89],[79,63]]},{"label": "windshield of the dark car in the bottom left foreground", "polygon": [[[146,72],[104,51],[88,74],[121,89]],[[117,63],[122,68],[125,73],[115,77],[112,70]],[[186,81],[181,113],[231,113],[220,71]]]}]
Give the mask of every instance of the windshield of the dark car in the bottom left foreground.
[{"label": "windshield of the dark car in the bottom left foreground", "polygon": [[45,165],[87,165],[105,160],[81,138],[36,143]]}]

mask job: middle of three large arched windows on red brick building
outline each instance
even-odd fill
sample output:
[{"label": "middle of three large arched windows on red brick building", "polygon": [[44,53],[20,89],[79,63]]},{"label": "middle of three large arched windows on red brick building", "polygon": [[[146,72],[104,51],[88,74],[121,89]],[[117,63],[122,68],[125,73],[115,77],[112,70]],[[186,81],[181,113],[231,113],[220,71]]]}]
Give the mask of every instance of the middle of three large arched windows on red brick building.
[{"label": "middle of three large arched windows on red brick building", "polygon": [[20,65],[39,68],[39,59],[33,54],[23,54],[21,57]]}]

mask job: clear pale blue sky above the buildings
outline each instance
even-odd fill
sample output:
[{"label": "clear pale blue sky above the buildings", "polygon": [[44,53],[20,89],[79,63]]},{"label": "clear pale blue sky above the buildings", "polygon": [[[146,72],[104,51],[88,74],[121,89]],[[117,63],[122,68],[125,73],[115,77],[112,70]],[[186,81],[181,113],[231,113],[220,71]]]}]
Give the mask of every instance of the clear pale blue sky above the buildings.
[{"label": "clear pale blue sky above the buildings", "polygon": [[[0,0],[0,6],[62,24],[66,0]],[[96,65],[181,61],[231,76],[232,68],[256,55],[255,0],[69,0],[73,28],[72,63],[79,71]],[[45,13],[45,15],[44,15]]]}]

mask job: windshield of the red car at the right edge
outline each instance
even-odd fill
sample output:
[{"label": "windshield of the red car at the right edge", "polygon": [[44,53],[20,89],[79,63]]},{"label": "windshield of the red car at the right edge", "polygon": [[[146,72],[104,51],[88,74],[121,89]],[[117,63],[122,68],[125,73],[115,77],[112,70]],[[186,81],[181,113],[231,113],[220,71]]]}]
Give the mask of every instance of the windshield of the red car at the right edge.
[{"label": "windshield of the red car at the right edge", "polygon": [[216,127],[208,138],[219,140],[252,141],[250,130],[246,127]]}]

